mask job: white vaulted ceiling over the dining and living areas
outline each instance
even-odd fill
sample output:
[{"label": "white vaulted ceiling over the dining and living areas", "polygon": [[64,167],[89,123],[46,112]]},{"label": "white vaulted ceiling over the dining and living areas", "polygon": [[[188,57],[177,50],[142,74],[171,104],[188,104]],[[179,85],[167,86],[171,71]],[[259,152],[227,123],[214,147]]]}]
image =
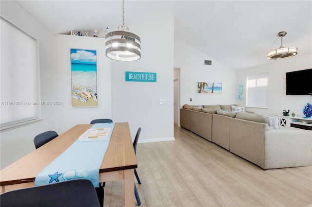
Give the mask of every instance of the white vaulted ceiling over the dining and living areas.
[{"label": "white vaulted ceiling over the dining and living areas", "polygon": [[[105,36],[106,27],[122,25],[121,0],[17,2],[52,34],[98,29]],[[235,70],[283,61],[266,59],[266,52],[280,46],[281,31],[287,32],[284,47],[298,47],[297,56],[312,55],[311,0],[125,0],[125,25],[133,33],[131,25],[168,13],[175,16],[175,41]]]}]

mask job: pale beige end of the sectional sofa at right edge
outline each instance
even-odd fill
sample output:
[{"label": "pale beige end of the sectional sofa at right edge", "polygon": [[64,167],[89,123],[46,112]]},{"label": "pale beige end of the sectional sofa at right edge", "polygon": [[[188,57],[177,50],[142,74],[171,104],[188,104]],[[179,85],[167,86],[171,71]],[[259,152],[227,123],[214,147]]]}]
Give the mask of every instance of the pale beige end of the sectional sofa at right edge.
[{"label": "pale beige end of the sectional sofa at right edge", "polygon": [[312,164],[312,131],[293,127],[265,132],[264,169]]}]

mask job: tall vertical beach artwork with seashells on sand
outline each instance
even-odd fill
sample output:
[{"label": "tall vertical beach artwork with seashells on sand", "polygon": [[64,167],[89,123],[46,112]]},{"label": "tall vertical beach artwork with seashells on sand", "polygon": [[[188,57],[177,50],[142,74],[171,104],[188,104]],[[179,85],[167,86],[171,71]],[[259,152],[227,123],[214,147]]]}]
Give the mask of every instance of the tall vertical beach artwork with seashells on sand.
[{"label": "tall vertical beach artwork with seashells on sand", "polygon": [[72,107],[97,107],[97,51],[70,49],[70,60]]}]

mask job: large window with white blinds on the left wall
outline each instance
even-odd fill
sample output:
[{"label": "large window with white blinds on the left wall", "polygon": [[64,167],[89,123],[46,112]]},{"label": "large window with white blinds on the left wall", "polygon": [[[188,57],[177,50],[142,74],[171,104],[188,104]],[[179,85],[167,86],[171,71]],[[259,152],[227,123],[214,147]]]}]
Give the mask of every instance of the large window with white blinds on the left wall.
[{"label": "large window with white blinds on the left wall", "polygon": [[1,131],[38,120],[38,42],[1,17]]}]

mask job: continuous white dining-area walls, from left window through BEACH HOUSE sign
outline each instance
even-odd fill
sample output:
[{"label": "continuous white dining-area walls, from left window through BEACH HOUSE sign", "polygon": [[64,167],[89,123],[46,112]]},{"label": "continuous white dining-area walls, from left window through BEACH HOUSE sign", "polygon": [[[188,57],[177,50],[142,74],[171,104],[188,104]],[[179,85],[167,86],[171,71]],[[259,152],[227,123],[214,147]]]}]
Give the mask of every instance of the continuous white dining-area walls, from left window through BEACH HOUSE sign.
[{"label": "continuous white dining-area walls, from left window through BEACH HOUSE sign", "polygon": [[[98,118],[129,122],[133,138],[142,127],[140,141],[174,139],[172,15],[142,17],[131,25],[130,32],[142,39],[142,58],[136,62],[108,59],[101,38],[51,35],[16,1],[1,1],[1,16],[39,40],[41,101],[62,102],[42,106],[42,121],[1,133],[1,169],[35,150],[33,138],[39,133],[55,130],[61,134]],[[97,50],[98,107],[71,107],[70,48]],[[137,68],[156,72],[157,82],[125,82],[125,71]],[[159,104],[160,99],[166,103]]]}]

